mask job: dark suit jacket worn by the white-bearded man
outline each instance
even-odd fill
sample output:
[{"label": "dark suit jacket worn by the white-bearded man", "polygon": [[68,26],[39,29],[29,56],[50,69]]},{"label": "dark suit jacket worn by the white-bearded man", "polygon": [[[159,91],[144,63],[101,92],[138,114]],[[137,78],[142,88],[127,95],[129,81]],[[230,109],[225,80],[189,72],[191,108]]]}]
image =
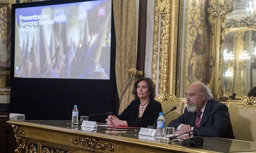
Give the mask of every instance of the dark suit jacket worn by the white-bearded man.
[{"label": "dark suit jacket worn by the white-bearded man", "polygon": [[[191,113],[186,108],[181,116],[169,123],[168,127],[177,128],[181,124],[194,127],[195,116],[196,112]],[[200,136],[235,138],[227,106],[215,100],[207,102],[200,127],[194,127],[193,129],[196,129]],[[193,135],[197,135],[196,131],[193,131]]]}]

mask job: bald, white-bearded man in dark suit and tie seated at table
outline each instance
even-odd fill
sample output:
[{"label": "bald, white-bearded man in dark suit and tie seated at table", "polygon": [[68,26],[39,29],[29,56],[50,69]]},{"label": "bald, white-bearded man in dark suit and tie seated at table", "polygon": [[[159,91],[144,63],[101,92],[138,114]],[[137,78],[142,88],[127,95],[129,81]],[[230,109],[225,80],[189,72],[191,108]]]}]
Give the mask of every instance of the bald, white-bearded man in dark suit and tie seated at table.
[{"label": "bald, white-bearded man in dark suit and tie seated at table", "polygon": [[[176,134],[196,129],[200,136],[235,138],[227,106],[213,100],[211,90],[205,84],[192,83],[185,93],[187,107],[181,116],[169,123],[168,127],[176,128]],[[198,135],[196,131],[192,131],[192,134]]]}]

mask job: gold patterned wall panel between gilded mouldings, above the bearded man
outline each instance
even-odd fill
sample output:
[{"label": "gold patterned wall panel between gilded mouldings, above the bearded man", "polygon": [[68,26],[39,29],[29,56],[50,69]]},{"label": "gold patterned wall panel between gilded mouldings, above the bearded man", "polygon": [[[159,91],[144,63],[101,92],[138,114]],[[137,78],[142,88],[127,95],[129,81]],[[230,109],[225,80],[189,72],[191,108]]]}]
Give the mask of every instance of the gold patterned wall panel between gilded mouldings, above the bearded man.
[{"label": "gold patterned wall panel between gilded mouldings, above the bearded man", "polygon": [[207,0],[186,0],[184,10],[183,91],[192,82],[207,82],[210,27]]}]

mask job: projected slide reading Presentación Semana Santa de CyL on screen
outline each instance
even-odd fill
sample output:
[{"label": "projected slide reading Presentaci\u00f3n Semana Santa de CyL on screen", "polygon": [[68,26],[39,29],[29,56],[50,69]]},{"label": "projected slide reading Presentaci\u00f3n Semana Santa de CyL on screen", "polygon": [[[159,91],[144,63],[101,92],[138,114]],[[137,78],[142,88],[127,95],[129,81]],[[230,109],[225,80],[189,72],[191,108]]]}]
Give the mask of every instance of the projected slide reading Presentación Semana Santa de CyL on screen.
[{"label": "projected slide reading Presentaci\u00f3n Semana Santa de CyL on screen", "polygon": [[109,79],[111,0],[15,12],[14,77]]}]

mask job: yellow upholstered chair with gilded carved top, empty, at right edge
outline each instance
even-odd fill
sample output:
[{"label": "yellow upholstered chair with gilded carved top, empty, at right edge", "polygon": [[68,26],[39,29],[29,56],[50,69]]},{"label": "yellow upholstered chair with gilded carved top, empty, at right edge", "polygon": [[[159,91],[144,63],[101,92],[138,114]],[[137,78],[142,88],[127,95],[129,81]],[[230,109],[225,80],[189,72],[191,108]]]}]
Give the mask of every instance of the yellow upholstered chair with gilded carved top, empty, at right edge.
[{"label": "yellow upholstered chair with gilded carved top, empty, at right edge", "polygon": [[235,139],[256,142],[256,97],[227,101]]}]

